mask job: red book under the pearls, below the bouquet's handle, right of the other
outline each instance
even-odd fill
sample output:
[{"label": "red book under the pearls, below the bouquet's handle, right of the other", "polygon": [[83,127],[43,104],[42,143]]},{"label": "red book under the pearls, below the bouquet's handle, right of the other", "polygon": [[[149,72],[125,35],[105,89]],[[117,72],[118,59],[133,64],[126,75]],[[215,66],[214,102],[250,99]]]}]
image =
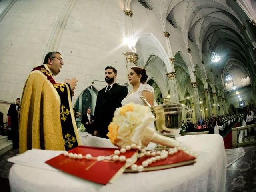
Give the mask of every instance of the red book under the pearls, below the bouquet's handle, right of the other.
[{"label": "red book under the pearls, below the bouquet's handle, right of the other", "polygon": [[[142,162],[147,160],[148,158],[151,158],[151,156],[144,155],[143,157],[138,158],[135,164],[141,165]],[[158,160],[158,161],[152,162],[152,164],[149,164],[147,167],[144,167],[143,171],[154,171],[154,170],[180,167],[184,165],[194,164],[195,162],[196,162],[196,157],[191,156],[184,151],[178,151],[173,155],[168,155],[168,157],[164,160]],[[133,171],[130,169],[130,167],[128,167],[125,170],[125,172],[130,173],[130,172],[137,172],[137,171]]]}]

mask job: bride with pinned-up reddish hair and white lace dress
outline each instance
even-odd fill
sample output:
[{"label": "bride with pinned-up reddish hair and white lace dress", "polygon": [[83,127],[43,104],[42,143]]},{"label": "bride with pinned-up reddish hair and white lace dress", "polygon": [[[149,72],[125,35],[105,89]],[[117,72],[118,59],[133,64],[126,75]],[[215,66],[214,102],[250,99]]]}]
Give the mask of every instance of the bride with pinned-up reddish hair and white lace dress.
[{"label": "bride with pinned-up reddish hair and white lace dress", "polygon": [[145,84],[148,79],[148,75],[145,69],[140,67],[132,67],[128,74],[130,84],[133,86],[133,90],[128,93],[126,98],[122,100],[122,106],[130,102],[135,104],[145,105],[140,96],[144,96],[151,106],[154,105],[154,88]]}]

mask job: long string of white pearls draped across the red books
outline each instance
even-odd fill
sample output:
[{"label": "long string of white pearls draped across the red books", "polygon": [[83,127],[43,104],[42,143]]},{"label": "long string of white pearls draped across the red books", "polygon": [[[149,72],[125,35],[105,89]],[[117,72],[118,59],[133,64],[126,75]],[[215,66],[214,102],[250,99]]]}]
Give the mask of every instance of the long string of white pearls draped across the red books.
[{"label": "long string of white pearls draped across the red books", "polygon": [[132,163],[131,158],[126,158],[126,156],[120,155],[120,154],[124,154],[126,151],[131,149],[138,149],[141,154],[145,154],[148,157],[152,156],[152,157],[149,157],[147,160],[144,160],[141,165],[137,165],[137,164],[131,165],[131,169],[133,171],[138,171],[138,172],[142,172],[144,170],[144,167],[147,167],[148,165],[152,164],[152,162],[164,160],[168,157],[168,155],[176,154],[179,150],[183,150],[184,152],[192,156],[198,156],[198,152],[192,150],[190,147],[182,146],[181,144],[179,144],[174,148],[169,148],[168,150],[156,150],[156,151],[154,150],[146,151],[144,148],[142,149],[141,146],[137,146],[136,144],[131,144],[131,145],[125,146],[124,148],[121,148],[120,150],[115,150],[114,154],[111,154],[109,156],[98,156],[98,157],[93,157],[91,154],[86,154],[85,156],[83,156],[82,154],[69,153],[67,151],[65,151],[63,154],[64,156],[68,156],[69,158],[74,158],[74,159],[85,158],[86,160],[97,160],[97,161],[102,161],[102,160],[113,160],[113,161],[120,161],[120,162],[125,161],[127,164],[131,164]]}]

